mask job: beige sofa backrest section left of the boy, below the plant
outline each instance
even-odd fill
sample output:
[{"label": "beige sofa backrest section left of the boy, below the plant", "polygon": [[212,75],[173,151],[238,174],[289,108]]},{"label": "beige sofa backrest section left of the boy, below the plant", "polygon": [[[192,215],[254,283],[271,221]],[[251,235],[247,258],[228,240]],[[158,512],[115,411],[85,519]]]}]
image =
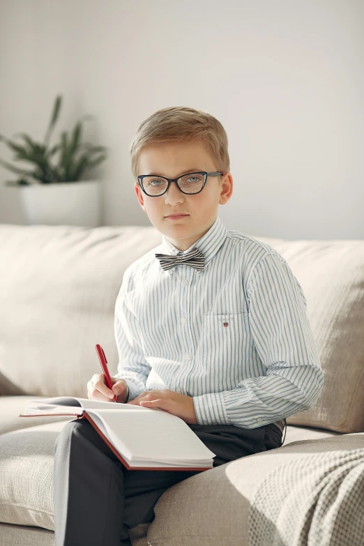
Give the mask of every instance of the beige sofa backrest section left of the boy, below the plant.
[{"label": "beige sofa backrest section left of the boy, below the plant", "polygon": [[97,343],[116,374],[123,273],[161,241],[153,226],[0,225],[0,394],[86,398]]}]

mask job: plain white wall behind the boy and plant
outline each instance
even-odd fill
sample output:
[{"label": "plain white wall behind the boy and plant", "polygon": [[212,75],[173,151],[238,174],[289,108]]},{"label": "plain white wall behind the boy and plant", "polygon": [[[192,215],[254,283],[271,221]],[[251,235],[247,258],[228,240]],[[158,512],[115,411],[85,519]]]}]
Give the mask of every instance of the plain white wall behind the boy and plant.
[{"label": "plain white wall behind the boy and plant", "polygon": [[[364,238],[363,30],[363,0],[0,0],[0,134],[43,139],[62,93],[52,142],[87,113],[85,138],[112,149],[93,173],[105,225],[151,225],[132,187],[137,126],[204,109],[229,137],[228,229]],[[0,167],[0,222],[24,224],[14,178]]]}]

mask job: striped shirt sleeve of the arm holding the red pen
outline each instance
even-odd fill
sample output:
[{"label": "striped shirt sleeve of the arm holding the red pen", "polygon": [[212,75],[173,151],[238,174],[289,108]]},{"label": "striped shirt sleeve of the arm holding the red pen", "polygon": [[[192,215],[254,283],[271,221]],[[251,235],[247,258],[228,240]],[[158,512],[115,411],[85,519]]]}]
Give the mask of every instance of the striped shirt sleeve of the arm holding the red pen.
[{"label": "striped shirt sleeve of the arm holding the red pen", "polygon": [[114,377],[125,379],[128,385],[128,399],[134,400],[146,388],[151,366],[144,358],[140,340],[140,326],[127,302],[128,277],[124,273],[123,283],[115,303],[114,333],[119,354],[118,371]]}]

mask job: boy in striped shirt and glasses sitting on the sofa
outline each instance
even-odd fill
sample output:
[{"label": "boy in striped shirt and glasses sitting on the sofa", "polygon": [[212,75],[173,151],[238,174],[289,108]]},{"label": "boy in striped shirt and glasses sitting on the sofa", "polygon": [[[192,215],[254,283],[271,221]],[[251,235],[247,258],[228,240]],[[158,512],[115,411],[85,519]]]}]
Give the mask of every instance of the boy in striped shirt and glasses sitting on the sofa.
[{"label": "boy in striped shirt and glasses sitting on the sofa", "polygon": [[[218,217],[233,189],[224,128],[202,111],[161,109],[130,152],[162,243],[123,275],[118,373],[112,390],[94,374],[89,398],[179,416],[214,467],[280,447],[285,418],[316,402],[324,377],[287,261]],[[55,546],[130,546],[128,529],[153,521],[160,495],[196,473],[128,471],[87,420],[67,423],[54,449]]]}]

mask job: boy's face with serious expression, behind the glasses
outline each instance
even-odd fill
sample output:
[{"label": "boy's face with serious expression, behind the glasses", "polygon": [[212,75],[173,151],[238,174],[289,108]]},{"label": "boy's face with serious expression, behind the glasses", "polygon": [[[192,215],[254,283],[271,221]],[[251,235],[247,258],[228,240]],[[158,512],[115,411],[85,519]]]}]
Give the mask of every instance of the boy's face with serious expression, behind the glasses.
[{"label": "boy's face with serious expression, behind the glasses", "polygon": [[[202,142],[145,146],[139,153],[137,163],[138,176],[158,174],[169,179],[189,172],[217,170]],[[167,192],[158,197],[146,195],[138,182],[134,183],[134,188],[140,206],[158,232],[179,250],[187,250],[213,225],[218,215],[218,205],[229,201],[233,179],[229,172],[221,176],[208,176],[204,189],[195,195],[186,195],[175,183],[169,184]],[[187,213],[187,216],[166,218],[176,212]]]}]

